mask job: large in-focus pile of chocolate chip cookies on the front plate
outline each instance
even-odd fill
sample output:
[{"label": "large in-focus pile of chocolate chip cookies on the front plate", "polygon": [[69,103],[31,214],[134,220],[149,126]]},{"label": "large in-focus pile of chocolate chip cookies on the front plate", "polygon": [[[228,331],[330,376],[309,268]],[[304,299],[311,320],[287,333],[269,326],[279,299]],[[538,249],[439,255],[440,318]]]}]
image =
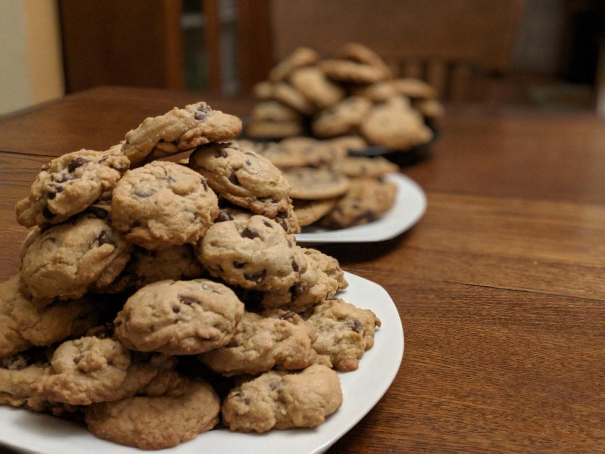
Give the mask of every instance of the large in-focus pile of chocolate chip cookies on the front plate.
[{"label": "large in-focus pile of chocolate chip cookies on the front plate", "polygon": [[335,297],[335,258],[296,245],[289,184],[227,142],[240,131],[199,102],[42,168],[16,206],[21,269],[0,283],[0,404],[142,449],[341,406],[335,370],[357,369],[381,322]]}]

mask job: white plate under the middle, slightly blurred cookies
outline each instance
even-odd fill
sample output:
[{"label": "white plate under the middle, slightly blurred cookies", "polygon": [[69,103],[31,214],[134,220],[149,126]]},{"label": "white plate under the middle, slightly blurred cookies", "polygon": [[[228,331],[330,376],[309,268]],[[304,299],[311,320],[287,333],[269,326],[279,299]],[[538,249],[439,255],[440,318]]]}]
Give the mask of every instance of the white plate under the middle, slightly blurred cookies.
[{"label": "white plate under the middle, slightly blurred cookies", "polygon": [[422,217],[427,209],[427,196],[411,178],[393,173],[385,180],[397,185],[395,203],[381,217],[364,225],[345,229],[328,230],[317,226],[302,228],[296,235],[300,244],[319,243],[366,243],[390,240],[405,232]]}]

